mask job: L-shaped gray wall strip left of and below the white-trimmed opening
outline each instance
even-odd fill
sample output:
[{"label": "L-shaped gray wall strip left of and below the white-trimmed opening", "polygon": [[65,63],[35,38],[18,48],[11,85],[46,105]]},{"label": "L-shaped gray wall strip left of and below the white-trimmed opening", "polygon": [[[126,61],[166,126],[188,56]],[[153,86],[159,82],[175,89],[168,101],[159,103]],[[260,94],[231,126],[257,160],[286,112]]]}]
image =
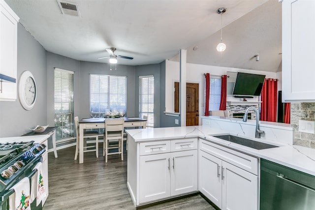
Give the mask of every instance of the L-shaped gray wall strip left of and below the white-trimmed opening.
[{"label": "L-shaped gray wall strip left of and below the white-trimmed opening", "polygon": [[[165,61],[160,63],[160,127],[177,127],[181,124],[181,117],[166,116],[165,112]],[[179,121],[179,124],[175,124],[175,119]]]}]

